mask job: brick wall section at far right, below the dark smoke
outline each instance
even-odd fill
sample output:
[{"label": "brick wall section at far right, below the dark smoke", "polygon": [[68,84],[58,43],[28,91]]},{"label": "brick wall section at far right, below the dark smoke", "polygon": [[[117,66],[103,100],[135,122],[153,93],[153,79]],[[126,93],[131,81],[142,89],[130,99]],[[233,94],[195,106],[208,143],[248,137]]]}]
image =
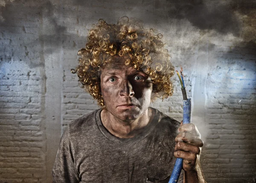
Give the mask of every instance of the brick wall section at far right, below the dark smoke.
[{"label": "brick wall section at far right, below the dark smoke", "polygon": [[209,134],[202,155],[204,172],[211,182],[254,182],[255,48],[217,47],[216,52],[215,67],[207,79]]}]

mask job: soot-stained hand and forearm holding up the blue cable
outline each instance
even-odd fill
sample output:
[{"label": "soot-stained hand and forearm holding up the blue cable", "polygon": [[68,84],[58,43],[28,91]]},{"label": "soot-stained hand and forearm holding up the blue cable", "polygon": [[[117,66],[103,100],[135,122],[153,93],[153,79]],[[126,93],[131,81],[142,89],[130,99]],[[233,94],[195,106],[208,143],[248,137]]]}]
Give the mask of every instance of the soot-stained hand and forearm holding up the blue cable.
[{"label": "soot-stained hand and forearm holding up the blue cable", "polygon": [[184,183],[206,183],[200,166],[200,154],[204,142],[194,124],[183,124],[175,138],[174,155],[183,158]]}]

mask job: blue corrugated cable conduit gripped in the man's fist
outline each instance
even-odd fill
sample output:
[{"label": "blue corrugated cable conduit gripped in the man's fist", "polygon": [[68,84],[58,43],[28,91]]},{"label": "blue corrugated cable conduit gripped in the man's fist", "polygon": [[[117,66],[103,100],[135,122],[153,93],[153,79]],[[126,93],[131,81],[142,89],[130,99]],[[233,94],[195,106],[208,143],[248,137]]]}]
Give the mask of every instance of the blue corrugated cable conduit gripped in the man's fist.
[{"label": "blue corrugated cable conduit gripped in the man's fist", "polygon": [[[185,89],[185,88],[184,88]],[[191,123],[191,99],[183,100],[183,124]],[[177,183],[183,166],[183,159],[177,158],[169,183]]]}]

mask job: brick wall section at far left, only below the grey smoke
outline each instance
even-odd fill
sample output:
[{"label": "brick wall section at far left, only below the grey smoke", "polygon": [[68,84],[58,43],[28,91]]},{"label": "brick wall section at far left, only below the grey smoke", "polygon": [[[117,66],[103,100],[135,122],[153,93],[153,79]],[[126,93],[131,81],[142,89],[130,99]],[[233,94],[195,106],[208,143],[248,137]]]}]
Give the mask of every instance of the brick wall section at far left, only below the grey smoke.
[{"label": "brick wall section at far left, only below the grey smoke", "polygon": [[41,182],[46,146],[41,75],[6,62],[0,83],[0,182]]}]

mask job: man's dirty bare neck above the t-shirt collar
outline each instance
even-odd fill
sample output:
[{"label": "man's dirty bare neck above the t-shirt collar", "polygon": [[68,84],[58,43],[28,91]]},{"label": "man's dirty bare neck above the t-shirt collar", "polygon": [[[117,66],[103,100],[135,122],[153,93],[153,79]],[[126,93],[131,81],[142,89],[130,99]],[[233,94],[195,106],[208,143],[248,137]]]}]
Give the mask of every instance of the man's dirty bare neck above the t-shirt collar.
[{"label": "man's dirty bare neck above the t-shirt collar", "polygon": [[108,110],[103,109],[100,117],[103,126],[112,135],[118,138],[133,138],[145,130],[145,127],[153,120],[154,110],[148,108],[143,115],[135,120],[120,120]]}]

